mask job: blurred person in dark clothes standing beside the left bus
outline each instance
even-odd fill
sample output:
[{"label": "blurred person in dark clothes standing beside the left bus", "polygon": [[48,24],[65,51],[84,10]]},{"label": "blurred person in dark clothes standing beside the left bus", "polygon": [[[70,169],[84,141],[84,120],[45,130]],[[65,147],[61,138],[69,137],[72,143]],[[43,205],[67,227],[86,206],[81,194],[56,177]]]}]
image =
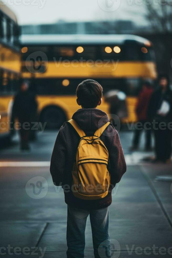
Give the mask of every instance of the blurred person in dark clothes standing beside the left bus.
[{"label": "blurred person in dark clothes standing beside the left bus", "polygon": [[29,83],[23,81],[20,91],[14,98],[13,117],[20,123],[21,150],[29,150],[29,133],[32,127],[32,118],[37,111],[35,95],[29,92]]}]

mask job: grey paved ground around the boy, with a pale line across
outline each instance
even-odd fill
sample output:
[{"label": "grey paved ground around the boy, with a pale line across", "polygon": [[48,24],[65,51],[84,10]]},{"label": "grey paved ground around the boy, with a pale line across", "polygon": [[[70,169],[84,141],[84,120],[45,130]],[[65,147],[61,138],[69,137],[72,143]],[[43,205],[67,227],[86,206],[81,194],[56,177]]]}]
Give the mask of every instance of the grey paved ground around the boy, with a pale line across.
[{"label": "grey paved ground around the boy, with a pale line across", "polygon": [[[3,257],[66,257],[67,205],[49,172],[56,135],[38,134],[30,152],[19,150],[18,137],[0,149]],[[172,165],[142,161],[152,155],[143,151],[143,139],[141,150],[131,153],[132,132],[120,132],[120,138],[127,172],[109,207],[110,237],[117,249],[112,257],[172,257]],[[89,219],[85,235],[85,257],[92,258]]]}]

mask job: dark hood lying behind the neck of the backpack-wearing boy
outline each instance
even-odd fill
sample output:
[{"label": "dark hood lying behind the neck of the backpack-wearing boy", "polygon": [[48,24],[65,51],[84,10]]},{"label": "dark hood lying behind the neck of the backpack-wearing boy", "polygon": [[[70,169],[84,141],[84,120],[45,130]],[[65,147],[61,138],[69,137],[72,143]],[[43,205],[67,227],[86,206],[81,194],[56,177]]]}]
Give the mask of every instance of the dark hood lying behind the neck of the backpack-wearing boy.
[{"label": "dark hood lying behind the neck of the backpack-wearing boy", "polygon": [[94,132],[105,123],[109,117],[98,108],[80,108],[72,116],[83,131]]}]

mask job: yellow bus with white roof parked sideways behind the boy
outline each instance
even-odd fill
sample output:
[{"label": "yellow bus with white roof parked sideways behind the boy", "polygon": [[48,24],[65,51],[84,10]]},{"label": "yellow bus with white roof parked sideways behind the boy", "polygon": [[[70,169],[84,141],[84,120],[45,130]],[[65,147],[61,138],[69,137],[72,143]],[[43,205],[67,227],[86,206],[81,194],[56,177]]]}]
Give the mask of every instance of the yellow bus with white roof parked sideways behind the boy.
[{"label": "yellow bus with white roof parked sideways behind the boy", "polygon": [[[22,77],[31,82],[40,120],[49,127],[61,126],[79,108],[76,87],[87,78],[104,93],[123,91],[131,122],[141,81],[156,78],[151,42],[134,35],[23,35],[21,52]],[[109,112],[104,100],[100,108]]]}]

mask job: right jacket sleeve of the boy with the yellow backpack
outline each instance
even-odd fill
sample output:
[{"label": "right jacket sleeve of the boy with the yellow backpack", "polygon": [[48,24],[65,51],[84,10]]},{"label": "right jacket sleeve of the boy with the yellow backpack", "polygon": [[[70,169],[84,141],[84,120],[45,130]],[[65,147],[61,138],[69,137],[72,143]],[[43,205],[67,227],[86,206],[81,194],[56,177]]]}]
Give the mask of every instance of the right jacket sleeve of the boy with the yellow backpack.
[{"label": "right jacket sleeve of the boy with the yellow backpack", "polygon": [[111,184],[115,185],[121,180],[121,177],[127,170],[120,138],[116,130],[114,132],[114,137],[112,137],[109,160]]}]

